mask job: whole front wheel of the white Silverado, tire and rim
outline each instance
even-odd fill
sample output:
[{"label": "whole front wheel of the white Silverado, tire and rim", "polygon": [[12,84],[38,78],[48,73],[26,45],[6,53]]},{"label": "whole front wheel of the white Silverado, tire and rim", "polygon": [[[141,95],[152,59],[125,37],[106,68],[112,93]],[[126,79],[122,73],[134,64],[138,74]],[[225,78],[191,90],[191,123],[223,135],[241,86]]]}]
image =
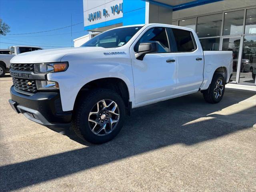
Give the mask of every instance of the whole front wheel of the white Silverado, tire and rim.
[{"label": "whole front wheel of the white Silverado, tire and rim", "polygon": [[122,129],[124,101],[113,90],[96,89],[76,103],[73,129],[88,142],[102,144],[112,140]]}]

